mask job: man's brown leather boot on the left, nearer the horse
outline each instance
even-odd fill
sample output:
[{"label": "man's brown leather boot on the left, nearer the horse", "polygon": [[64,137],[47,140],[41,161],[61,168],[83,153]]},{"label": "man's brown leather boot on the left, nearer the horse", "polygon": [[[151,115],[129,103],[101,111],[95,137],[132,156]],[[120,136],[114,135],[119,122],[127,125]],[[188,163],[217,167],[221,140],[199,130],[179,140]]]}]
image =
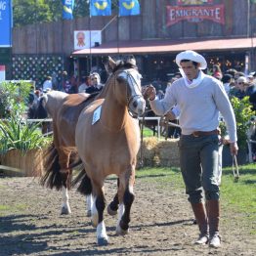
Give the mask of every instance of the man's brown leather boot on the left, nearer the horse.
[{"label": "man's brown leather boot on the left, nearer the horse", "polygon": [[207,215],[202,202],[192,203],[192,211],[198,224],[200,235],[195,244],[206,244],[209,239]]}]

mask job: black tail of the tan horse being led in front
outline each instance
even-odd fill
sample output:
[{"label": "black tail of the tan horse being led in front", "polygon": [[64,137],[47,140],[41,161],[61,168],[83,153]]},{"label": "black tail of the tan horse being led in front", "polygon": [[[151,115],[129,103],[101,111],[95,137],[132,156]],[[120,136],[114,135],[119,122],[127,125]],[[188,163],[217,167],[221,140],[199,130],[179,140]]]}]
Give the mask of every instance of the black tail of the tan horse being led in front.
[{"label": "black tail of the tan horse being led in front", "polygon": [[78,183],[80,183],[77,187],[77,192],[80,192],[82,194],[91,194],[92,193],[92,183],[91,179],[87,176],[87,173],[83,167],[82,160],[79,159],[79,161],[74,162],[70,165],[71,168],[77,167],[78,168],[78,175],[74,178],[74,180],[71,183],[72,187],[75,187]]}]

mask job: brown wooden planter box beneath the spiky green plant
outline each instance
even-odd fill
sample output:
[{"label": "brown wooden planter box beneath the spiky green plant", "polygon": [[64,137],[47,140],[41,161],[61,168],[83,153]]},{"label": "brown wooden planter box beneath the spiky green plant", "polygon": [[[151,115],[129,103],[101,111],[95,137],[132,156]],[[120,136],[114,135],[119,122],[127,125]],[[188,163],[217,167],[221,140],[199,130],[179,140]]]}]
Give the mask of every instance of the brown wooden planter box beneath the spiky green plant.
[{"label": "brown wooden planter box beneath the spiky green plant", "polygon": [[[43,150],[31,149],[22,153],[20,149],[11,149],[1,155],[1,165],[18,169],[17,172],[20,172],[20,176],[41,176],[43,173]],[[12,173],[14,175],[15,171]]]}]

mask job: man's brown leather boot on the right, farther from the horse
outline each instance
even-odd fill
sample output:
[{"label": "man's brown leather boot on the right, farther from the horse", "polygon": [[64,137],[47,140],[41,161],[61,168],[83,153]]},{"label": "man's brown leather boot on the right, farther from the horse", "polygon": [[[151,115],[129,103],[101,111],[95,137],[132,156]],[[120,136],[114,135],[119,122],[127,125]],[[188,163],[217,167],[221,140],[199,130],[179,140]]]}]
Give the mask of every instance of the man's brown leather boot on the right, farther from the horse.
[{"label": "man's brown leather boot on the right, farther from the horse", "polygon": [[219,200],[207,200],[206,207],[210,231],[209,246],[218,248],[221,246],[221,235],[219,235],[220,202]]}]

